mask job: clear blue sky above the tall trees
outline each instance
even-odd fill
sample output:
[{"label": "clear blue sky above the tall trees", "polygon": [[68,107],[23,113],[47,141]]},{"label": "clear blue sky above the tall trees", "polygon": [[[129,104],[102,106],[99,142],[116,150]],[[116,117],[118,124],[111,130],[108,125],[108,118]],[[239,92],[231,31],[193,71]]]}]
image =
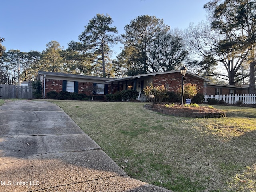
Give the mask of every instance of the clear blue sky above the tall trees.
[{"label": "clear blue sky above the tall trees", "polygon": [[[137,16],[163,19],[172,29],[185,29],[190,22],[206,20],[204,4],[209,0],[3,0],[0,36],[6,50],[42,52],[55,40],[64,48],[78,41],[84,26],[97,13],[109,14],[119,34]],[[116,54],[119,46],[114,48]]]}]

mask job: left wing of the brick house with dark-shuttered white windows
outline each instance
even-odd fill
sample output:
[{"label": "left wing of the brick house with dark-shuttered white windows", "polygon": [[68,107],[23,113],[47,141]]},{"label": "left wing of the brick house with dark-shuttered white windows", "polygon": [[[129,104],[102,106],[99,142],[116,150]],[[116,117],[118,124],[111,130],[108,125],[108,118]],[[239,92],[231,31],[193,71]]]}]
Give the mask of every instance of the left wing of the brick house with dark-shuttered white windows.
[{"label": "left wing of the brick house with dark-shuttered white windows", "polygon": [[68,91],[76,93],[85,93],[86,95],[98,94],[106,95],[111,93],[111,84],[104,83],[113,78],[103,78],[86,75],[75,75],[66,73],[54,73],[39,71],[37,80],[42,82],[43,98],[47,98],[50,91]]}]

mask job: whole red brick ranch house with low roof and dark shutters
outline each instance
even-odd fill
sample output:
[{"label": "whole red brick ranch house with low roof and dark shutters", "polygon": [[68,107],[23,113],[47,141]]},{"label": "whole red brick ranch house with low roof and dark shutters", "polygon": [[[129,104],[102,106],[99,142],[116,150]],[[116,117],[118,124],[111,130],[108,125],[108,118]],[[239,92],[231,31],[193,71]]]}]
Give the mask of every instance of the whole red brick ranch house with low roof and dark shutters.
[{"label": "whole red brick ranch house with low roof and dark shutters", "polygon": [[[182,75],[180,70],[148,73],[124,78],[103,78],[96,76],[84,76],[76,74],[38,72],[38,78],[42,82],[43,98],[47,98],[50,91],[68,91],[76,93],[85,93],[86,95],[106,95],[122,90],[137,90],[143,94],[143,89],[150,82],[153,86],[164,85],[168,91],[176,91],[182,84]],[[204,93],[204,83],[207,78],[186,72],[185,84],[197,84],[198,92]]]}]

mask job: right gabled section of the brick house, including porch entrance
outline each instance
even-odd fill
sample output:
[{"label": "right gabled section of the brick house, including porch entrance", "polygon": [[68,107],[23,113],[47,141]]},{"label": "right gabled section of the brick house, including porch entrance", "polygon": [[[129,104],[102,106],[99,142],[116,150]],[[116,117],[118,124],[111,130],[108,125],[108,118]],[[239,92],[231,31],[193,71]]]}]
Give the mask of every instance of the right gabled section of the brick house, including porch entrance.
[{"label": "right gabled section of the brick house, including porch entrance", "polygon": [[[186,83],[197,84],[198,92],[203,94],[204,82],[210,81],[207,78],[186,72],[185,81]],[[142,75],[128,76],[124,78],[108,80],[105,83],[111,83],[112,87],[122,88],[122,90],[137,90],[143,94],[143,89],[146,88],[152,82],[153,86],[164,87],[168,91],[177,91],[182,84],[182,75],[180,70],[178,71],[168,71],[168,72],[158,72],[158,73],[147,73]]]}]

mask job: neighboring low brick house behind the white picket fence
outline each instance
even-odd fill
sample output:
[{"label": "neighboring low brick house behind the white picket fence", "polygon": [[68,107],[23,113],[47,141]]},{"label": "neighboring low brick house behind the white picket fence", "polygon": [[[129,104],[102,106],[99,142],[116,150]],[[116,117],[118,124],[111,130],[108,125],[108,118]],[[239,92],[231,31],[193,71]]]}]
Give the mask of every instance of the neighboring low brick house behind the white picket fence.
[{"label": "neighboring low brick house behind the white picket fence", "polygon": [[249,85],[222,85],[205,83],[204,84],[204,95],[232,95],[232,94],[248,94]]}]

